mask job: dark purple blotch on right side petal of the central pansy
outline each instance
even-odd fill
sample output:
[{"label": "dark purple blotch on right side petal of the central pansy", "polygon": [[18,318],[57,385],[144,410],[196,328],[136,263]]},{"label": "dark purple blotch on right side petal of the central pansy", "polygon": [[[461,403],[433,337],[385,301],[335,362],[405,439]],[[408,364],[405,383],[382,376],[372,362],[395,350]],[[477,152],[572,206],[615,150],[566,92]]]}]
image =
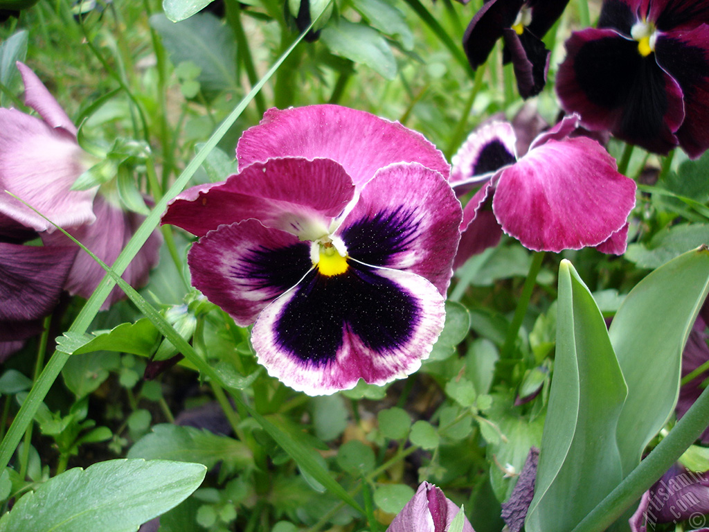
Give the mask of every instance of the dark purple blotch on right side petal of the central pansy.
[{"label": "dark purple blotch on right side petal of the central pansy", "polygon": [[408,250],[417,234],[418,221],[413,209],[398,206],[360,218],[342,229],[347,253],[374,266],[390,266],[390,257]]}]

